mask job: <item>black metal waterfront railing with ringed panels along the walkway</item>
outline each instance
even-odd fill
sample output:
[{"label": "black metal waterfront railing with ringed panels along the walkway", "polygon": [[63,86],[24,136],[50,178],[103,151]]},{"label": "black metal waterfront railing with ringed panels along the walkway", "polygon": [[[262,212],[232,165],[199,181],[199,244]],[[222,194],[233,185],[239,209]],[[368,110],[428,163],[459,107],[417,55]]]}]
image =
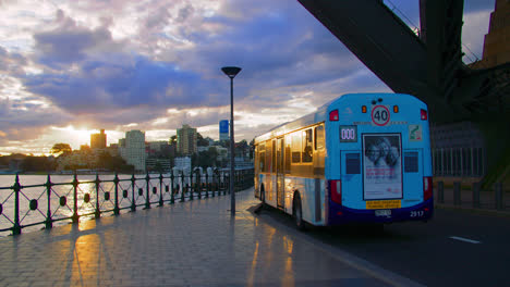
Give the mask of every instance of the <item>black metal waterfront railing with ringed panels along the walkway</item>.
[{"label": "black metal waterfront railing with ringed panels along the walkway", "polygon": [[[48,175],[45,184],[23,185],[16,175],[12,186],[0,187],[0,235],[19,235],[23,228],[37,225],[52,228],[56,222],[77,223],[81,217],[99,219],[105,213],[118,215],[122,210],[134,212],[141,207],[224,196],[229,194],[229,176],[226,170],[203,172],[195,167],[192,172],[147,173],[142,177],[114,174],[112,179],[96,174],[95,179],[80,180],[74,174],[72,182],[65,183],[52,182]],[[253,169],[236,170],[233,176],[235,191],[253,186]]]}]

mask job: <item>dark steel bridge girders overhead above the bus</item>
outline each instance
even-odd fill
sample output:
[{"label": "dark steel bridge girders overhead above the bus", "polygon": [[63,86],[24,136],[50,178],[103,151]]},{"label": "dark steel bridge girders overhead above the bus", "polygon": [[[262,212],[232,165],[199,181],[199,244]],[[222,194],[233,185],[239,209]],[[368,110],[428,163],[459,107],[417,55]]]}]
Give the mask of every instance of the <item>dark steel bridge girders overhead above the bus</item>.
[{"label": "dark steel bridge girders overhead above the bus", "polygon": [[510,66],[462,62],[463,0],[421,0],[420,36],[382,1],[299,1],[394,92],[425,101],[434,122],[509,111]]}]

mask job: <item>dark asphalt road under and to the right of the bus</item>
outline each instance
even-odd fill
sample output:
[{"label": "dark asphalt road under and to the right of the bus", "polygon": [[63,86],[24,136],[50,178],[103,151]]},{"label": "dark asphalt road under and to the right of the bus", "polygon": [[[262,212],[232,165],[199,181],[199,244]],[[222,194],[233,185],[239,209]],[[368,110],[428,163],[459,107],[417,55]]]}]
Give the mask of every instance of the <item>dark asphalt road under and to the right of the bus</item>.
[{"label": "dark asphalt road under and to the right of the bus", "polygon": [[[265,208],[260,219],[293,228],[292,219]],[[296,232],[298,233],[298,232]],[[510,217],[436,209],[428,223],[312,227],[301,233],[427,286],[510,286]]]}]

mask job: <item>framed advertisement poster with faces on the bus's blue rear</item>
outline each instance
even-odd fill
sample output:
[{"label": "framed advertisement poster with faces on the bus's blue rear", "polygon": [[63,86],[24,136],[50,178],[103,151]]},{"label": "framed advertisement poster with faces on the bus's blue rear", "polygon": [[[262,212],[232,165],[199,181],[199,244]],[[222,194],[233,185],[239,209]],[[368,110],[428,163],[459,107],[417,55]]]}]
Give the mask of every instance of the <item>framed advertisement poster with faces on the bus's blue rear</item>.
[{"label": "framed advertisement poster with faces on the bus's blue rear", "polygon": [[400,134],[363,135],[365,200],[402,198]]}]

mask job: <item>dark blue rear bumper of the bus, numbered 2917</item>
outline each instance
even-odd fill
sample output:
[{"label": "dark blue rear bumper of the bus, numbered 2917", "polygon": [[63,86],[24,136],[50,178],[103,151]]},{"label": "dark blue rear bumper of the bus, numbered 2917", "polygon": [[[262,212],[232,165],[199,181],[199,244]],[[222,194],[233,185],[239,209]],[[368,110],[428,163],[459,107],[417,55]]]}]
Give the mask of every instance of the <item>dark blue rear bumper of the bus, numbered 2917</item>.
[{"label": "dark blue rear bumper of the bus, numbered 2917", "polygon": [[347,223],[393,223],[405,221],[426,222],[433,217],[434,201],[429,199],[413,207],[390,209],[390,215],[376,215],[375,210],[350,209],[330,202],[328,225],[342,225]]}]

